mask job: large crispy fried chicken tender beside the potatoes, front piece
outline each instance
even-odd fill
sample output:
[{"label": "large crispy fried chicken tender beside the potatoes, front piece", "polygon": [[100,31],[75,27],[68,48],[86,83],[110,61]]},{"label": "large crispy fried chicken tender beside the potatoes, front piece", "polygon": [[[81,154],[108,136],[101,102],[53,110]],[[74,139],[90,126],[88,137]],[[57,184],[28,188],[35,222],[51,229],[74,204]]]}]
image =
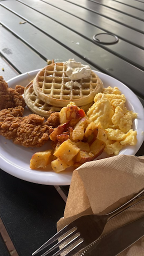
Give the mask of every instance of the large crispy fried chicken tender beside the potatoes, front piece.
[{"label": "large crispy fried chicken tender beside the potatoes, front piece", "polygon": [[44,117],[29,114],[22,117],[24,108],[2,109],[0,111],[0,135],[12,139],[15,144],[25,147],[39,147],[49,138],[49,126]]}]

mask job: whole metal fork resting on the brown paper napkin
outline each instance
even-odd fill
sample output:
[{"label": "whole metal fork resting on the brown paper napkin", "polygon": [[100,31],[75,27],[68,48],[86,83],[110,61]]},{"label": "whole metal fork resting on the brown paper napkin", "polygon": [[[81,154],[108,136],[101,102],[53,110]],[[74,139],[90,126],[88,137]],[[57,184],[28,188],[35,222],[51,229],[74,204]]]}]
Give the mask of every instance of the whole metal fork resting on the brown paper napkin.
[{"label": "whole metal fork resting on the brown paper napkin", "polygon": [[107,221],[117,216],[121,212],[125,211],[126,209],[130,208],[131,206],[135,205],[136,203],[142,201],[144,199],[144,195],[142,195],[143,192],[144,189],[133,198],[131,198],[128,202],[124,203],[119,208],[105,215],[90,214],[78,217],[77,219],[66,225],[64,228],[62,228],[55,235],[53,235],[37,250],[35,250],[32,253],[32,256],[34,256],[37,252],[41,251],[57,239],[59,239],[60,241],[54,244],[43,254],[41,254],[41,256],[49,254],[60,245],[62,246],[62,248],[52,254],[52,256],[57,256],[62,252],[65,253],[64,255],[73,256],[75,253],[82,250],[88,244],[98,239]]}]

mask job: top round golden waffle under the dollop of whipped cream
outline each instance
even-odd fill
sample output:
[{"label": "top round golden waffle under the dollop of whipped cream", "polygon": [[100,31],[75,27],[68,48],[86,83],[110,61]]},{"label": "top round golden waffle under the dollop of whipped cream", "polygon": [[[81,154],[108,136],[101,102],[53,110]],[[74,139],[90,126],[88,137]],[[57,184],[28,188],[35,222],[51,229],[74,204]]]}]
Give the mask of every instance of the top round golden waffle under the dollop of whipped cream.
[{"label": "top round golden waffle under the dollop of whipped cream", "polygon": [[71,79],[66,75],[66,66],[63,62],[56,62],[37,73],[33,89],[41,100],[57,107],[66,106],[70,101],[77,106],[88,104],[103,89],[102,81],[92,70],[89,77],[74,80],[80,87],[67,88],[65,83],[68,81]]}]

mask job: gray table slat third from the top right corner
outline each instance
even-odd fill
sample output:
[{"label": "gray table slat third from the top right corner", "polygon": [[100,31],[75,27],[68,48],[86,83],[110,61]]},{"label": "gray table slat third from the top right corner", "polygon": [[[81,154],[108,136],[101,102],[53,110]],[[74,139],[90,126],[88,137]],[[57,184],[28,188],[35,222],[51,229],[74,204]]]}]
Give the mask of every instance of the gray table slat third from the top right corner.
[{"label": "gray table slat third from the top right corner", "polygon": [[108,17],[109,19],[112,19],[118,23],[124,24],[128,27],[134,28],[137,27],[138,25],[142,25],[143,21],[138,20],[137,18],[127,16],[124,13],[121,13],[119,11],[107,8],[105,6],[102,6],[96,2],[92,2],[89,0],[83,1],[83,0],[65,0],[68,2],[72,2],[75,5],[81,6],[85,9],[89,9],[93,12],[98,13],[99,15]]}]

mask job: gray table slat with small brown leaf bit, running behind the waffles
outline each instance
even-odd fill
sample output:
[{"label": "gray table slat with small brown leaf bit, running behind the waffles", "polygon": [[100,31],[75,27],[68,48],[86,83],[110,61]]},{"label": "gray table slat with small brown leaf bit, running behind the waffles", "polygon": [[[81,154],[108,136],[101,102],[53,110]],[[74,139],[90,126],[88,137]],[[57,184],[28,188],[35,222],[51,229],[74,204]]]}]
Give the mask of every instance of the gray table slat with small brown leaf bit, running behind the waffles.
[{"label": "gray table slat with small brown leaf bit, running behind the waffles", "polygon": [[[54,59],[54,61],[66,61],[68,58],[74,58],[76,61],[82,61],[82,63],[88,64],[73,52],[69,51],[58,42],[48,37],[46,34],[30,25],[28,22],[19,24],[20,21],[23,21],[23,19],[0,6],[1,24],[9,29],[13,34],[15,34],[16,37],[20,38],[23,42],[30,46],[34,51],[42,55],[45,59]],[[92,65],[91,68],[97,70]]]}]

